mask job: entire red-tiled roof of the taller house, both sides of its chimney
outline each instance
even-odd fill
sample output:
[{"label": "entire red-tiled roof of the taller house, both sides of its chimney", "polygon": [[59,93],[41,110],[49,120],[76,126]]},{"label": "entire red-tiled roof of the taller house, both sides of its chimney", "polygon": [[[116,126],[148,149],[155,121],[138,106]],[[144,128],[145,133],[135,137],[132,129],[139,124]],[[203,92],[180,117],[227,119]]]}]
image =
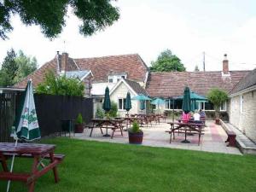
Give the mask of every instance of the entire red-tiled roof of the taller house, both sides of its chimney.
[{"label": "entire red-tiled roof of the taller house, both sides of its chimney", "polygon": [[[61,67],[61,55],[59,55],[59,64]],[[137,54],[131,55],[113,55],[96,58],[85,58],[85,59],[72,59],[68,58],[67,71],[72,70],[85,70],[93,73],[94,83],[107,82],[108,74],[123,74],[127,73],[127,78],[144,81],[148,67]],[[37,71],[30,74],[26,79],[21,80],[15,87],[24,88],[28,79],[32,79],[34,86],[38,86],[39,83],[44,81],[44,74],[48,70],[52,70],[54,73],[57,71],[57,60],[56,58],[52,61],[45,63]]]}]

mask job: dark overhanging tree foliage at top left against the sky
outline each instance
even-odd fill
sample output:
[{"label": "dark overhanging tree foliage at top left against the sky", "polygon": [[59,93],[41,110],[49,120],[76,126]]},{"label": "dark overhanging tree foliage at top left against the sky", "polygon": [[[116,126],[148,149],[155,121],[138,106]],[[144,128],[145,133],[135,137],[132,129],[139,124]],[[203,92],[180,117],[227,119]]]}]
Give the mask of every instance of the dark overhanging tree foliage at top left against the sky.
[{"label": "dark overhanging tree foliage at top left against the sky", "polygon": [[20,15],[20,20],[26,26],[41,26],[47,38],[55,38],[66,25],[64,18],[68,6],[82,21],[79,32],[84,36],[92,35],[119,19],[119,9],[110,2],[111,0],[3,0],[0,1],[0,37],[6,39],[6,33],[13,30],[11,15]]}]

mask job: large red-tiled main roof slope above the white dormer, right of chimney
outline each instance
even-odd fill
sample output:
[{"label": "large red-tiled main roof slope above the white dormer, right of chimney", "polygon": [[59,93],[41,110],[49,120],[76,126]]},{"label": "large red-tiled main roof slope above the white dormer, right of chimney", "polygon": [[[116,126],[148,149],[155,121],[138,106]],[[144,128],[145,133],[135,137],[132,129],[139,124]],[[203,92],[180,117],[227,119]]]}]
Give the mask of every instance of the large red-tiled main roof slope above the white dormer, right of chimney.
[{"label": "large red-tiled main roof slope above the white dormer, right of chimney", "polygon": [[127,79],[144,81],[148,67],[140,55],[113,55],[75,59],[81,70],[91,70],[94,83],[108,81],[109,74],[127,73]]}]

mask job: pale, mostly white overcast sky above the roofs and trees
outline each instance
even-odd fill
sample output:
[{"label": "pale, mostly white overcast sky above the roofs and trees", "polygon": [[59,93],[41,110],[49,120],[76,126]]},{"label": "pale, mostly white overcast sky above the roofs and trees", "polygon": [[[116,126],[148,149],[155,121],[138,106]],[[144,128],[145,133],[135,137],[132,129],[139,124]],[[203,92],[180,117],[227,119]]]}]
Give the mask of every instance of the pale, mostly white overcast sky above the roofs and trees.
[{"label": "pale, mostly white overcast sky above the roofs and trees", "polygon": [[249,0],[118,0],[120,19],[91,37],[79,34],[80,21],[69,9],[67,26],[53,40],[39,26],[25,26],[12,17],[14,31],[0,39],[0,63],[7,50],[23,50],[35,56],[38,66],[50,61],[56,51],[73,58],[105,55],[141,55],[148,67],[161,51],[171,49],[187,71],[222,70],[224,54],[230,70],[256,67],[256,1]]}]

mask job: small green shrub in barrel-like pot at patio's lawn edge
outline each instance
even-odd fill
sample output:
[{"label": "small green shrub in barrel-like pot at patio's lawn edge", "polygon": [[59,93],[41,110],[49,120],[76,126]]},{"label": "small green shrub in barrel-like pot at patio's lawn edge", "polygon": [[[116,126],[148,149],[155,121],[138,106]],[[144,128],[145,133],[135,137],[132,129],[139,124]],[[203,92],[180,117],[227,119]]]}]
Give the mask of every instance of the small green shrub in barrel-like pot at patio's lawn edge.
[{"label": "small green shrub in barrel-like pot at patio's lawn edge", "polygon": [[129,143],[141,144],[143,143],[143,131],[140,129],[137,121],[134,121],[131,128],[128,129]]}]

